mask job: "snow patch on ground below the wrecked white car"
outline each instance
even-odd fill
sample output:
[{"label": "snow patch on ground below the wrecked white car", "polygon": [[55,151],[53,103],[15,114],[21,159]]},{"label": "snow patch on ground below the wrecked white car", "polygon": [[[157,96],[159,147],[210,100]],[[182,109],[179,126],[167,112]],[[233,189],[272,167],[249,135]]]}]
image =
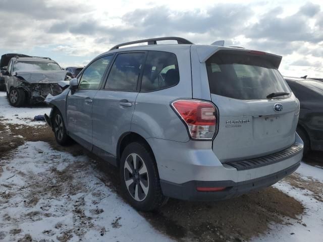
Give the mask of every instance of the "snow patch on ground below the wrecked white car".
[{"label": "snow patch on ground below the wrecked white car", "polygon": [[9,104],[6,92],[0,92],[0,117],[7,124],[44,125],[43,121],[34,121],[34,116],[49,112],[50,108],[46,106],[13,107]]}]

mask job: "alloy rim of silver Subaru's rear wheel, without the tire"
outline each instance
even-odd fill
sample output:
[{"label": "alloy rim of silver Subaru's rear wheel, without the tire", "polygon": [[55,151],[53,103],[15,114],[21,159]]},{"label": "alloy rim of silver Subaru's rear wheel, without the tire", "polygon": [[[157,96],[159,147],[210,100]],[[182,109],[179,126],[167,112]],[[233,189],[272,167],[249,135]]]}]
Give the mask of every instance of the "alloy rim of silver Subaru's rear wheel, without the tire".
[{"label": "alloy rim of silver Subaru's rear wheel, without the tire", "polygon": [[143,159],[136,153],[128,155],[124,164],[124,177],[130,195],[138,202],[143,201],[149,191],[149,177]]}]

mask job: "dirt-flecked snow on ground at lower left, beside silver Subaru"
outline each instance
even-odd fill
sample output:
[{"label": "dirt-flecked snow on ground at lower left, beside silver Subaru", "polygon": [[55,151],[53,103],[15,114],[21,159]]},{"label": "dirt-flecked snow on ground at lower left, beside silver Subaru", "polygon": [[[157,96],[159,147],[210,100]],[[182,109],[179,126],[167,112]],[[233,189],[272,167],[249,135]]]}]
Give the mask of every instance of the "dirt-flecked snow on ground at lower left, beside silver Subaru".
[{"label": "dirt-flecked snow on ground at lower left, beside silver Subaru", "polygon": [[13,153],[0,161],[0,240],[171,240],[106,187],[88,157],[40,141]]}]

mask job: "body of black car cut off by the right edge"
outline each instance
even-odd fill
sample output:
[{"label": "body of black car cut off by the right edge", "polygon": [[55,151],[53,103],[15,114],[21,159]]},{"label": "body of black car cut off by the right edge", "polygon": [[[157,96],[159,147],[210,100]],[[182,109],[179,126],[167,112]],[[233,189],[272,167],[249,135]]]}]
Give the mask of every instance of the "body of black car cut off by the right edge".
[{"label": "body of black car cut off by the right edge", "polygon": [[298,126],[306,132],[311,150],[323,151],[323,82],[285,78],[300,101]]}]

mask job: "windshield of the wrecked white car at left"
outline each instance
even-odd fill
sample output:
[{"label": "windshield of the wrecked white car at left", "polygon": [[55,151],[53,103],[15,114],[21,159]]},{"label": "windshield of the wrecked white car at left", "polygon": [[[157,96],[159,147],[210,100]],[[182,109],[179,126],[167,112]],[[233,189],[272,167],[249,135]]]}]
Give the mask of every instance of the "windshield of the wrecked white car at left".
[{"label": "windshield of the wrecked white car at left", "polygon": [[60,66],[52,62],[15,62],[14,72],[62,71]]}]

